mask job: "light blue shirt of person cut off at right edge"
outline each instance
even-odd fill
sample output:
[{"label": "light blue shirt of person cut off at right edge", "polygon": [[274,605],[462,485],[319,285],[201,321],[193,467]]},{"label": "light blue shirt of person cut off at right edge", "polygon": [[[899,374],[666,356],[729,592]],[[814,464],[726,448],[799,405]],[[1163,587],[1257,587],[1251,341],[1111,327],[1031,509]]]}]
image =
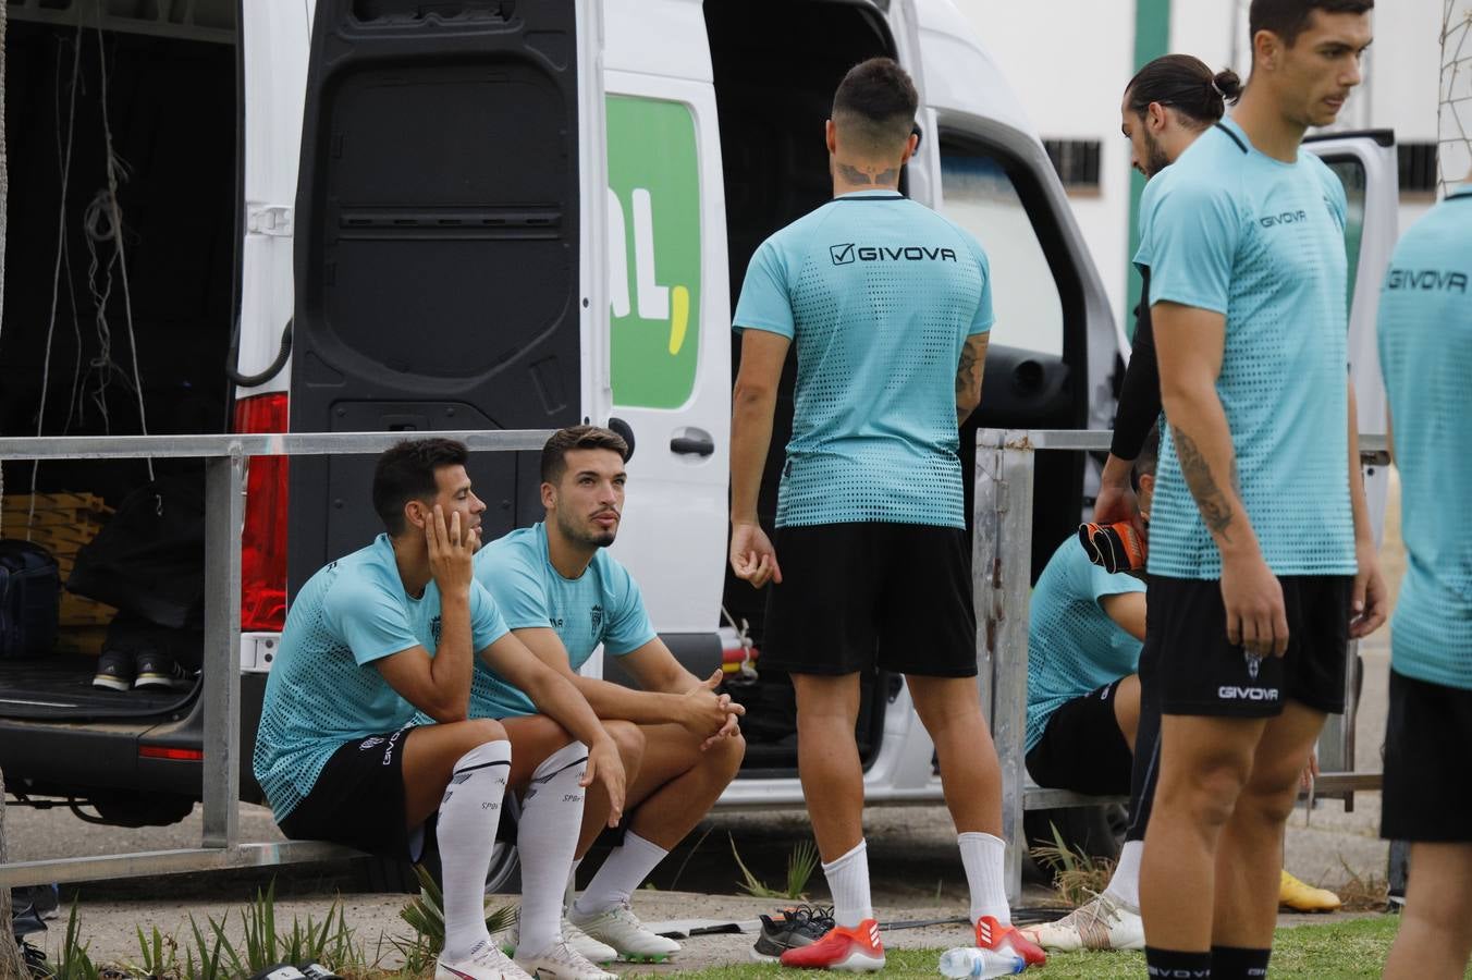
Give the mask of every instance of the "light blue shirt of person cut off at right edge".
[{"label": "light blue shirt of person cut off at right edge", "polygon": [[1412,225],[1381,287],[1407,568],[1391,667],[1472,689],[1472,184]]}]

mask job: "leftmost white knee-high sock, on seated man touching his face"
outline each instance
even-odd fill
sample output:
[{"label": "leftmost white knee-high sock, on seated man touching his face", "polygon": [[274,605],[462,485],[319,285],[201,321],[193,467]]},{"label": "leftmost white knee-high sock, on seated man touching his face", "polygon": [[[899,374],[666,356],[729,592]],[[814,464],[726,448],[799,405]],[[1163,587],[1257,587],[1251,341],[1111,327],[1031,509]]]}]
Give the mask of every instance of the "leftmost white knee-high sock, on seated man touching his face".
[{"label": "leftmost white knee-high sock, on seated man touching his face", "polygon": [[487,742],[462,755],[440,800],[440,878],[445,884],[445,954],[470,959],[490,943],[486,871],[496,846],[500,798],[511,771],[511,743]]}]

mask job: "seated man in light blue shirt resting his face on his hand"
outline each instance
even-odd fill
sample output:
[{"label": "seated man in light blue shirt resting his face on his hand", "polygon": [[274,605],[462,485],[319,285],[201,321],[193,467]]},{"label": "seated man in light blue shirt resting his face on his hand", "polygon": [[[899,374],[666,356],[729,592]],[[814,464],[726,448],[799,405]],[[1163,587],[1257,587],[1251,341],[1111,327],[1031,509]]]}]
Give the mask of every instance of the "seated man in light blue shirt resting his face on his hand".
[{"label": "seated man in light blue shirt resting his face on his hand", "polygon": [[[372,500],[387,533],[318,571],[291,603],[266,681],[256,780],[293,839],[417,859],[436,827],[437,980],[526,980],[527,971],[608,980],[562,940],[556,911],[583,790],[596,784],[615,820],[623,764],[581,695],[511,636],[475,583],[486,505],[465,459],[464,444],[443,438],[399,443],[378,458]],[[549,718],[468,720],[474,652]],[[433,724],[415,724],[418,712]],[[528,918],[517,951],[526,971],[492,943],[484,917],[502,796],[518,784],[530,787],[527,808],[540,809],[539,831],[521,839],[527,890],[545,883],[552,895],[551,905],[533,896],[551,915]]]}]

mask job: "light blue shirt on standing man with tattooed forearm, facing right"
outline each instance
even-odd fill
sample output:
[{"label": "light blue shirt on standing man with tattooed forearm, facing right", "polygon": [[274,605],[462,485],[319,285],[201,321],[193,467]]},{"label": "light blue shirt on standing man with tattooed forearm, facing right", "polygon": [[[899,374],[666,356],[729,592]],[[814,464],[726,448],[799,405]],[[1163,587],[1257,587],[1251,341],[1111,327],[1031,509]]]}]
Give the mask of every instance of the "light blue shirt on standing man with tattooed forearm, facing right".
[{"label": "light blue shirt on standing man with tattooed forearm, facing right", "polygon": [[[1226,316],[1216,391],[1269,568],[1353,575],[1342,184],[1313,153],[1275,160],[1226,121],[1145,185],[1139,215],[1135,263],[1150,268],[1151,303]],[[1220,578],[1222,555],[1166,436],[1150,574]]]}]

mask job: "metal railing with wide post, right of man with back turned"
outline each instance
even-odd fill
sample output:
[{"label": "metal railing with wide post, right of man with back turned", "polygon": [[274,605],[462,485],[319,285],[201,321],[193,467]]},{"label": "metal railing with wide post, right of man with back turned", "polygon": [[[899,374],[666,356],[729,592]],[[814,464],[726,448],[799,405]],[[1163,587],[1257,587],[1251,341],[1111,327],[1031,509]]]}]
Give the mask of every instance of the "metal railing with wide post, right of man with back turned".
[{"label": "metal railing with wide post, right of man with back turned", "polygon": [[[1113,433],[1080,430],[997,430],[976,433],[976,497],[972,511],[972,587],[976,600],[976,658],[982,706],[1002,770],[1002,837],[1007,848],[1007,896],[1022,896],[1026,851],[1023,814],[1029,809],[1088,806],[1117,800],[1032,786],[1023,765],[1027,728],[1027,611],[1032,594],[1033,462],[1038,452],[1108,452]],[[1360,436],[1365,464],[1388,461],[1384,436]],[[1356,653],[1351,645],[1348,656]],[[1319,796],[1379,789],[1379,773],[1356,773],[1354,672],[1345,671],[1345,714],[1331,715],[1320,736],[1325,771]]]}]

